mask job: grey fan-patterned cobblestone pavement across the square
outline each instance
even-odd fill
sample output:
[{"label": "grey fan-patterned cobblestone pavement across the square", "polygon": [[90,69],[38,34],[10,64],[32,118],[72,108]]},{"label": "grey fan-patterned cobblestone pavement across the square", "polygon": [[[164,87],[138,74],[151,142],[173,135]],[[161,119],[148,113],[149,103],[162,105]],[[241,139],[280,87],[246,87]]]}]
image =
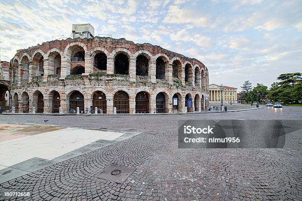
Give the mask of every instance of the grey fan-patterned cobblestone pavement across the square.
[{"label": "grey fan-patterned cobblestone pavement across the square", "polygon": [[[0,115],[0,122],[43,123],[41,115]],[[302,200],[302,151],[178,149],[177,120],[302,119],[302,107],[131,116],[47,116],[58,126],[143,132],[130,139],[0,184],[0,200]],[[301,137],[297,138],[301,140]],[[135,167],[123,184],[97,175],[109,164]],[[4,192],[31,192],[4,197]]]}]

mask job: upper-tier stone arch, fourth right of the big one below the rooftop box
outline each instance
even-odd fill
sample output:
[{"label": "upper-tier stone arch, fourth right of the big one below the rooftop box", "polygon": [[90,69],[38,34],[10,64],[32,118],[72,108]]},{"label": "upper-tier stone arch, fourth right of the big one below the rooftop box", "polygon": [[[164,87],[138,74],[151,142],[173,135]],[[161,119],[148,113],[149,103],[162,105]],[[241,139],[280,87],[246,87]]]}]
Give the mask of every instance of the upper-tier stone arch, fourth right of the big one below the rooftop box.
[{"label": "upper-tier stone arch, fourth right of the big one below the rooftop box", "polygon": [[155,61],[156,79],[168,79],[169,72],[169,57],[165,54],[157,54],[153,57]]}]

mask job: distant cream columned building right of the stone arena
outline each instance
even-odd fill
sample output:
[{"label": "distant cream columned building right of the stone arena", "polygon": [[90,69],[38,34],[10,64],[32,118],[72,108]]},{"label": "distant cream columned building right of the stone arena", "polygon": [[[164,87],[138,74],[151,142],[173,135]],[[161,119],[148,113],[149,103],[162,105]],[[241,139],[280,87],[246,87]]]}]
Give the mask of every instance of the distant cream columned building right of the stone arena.
[{"label": "distant cream columned building right of the stone arena", "polygon": [[209,85],[209,102],[221,103],[221,99],[225,103],[237,103],[237,88],[210,84]]}]

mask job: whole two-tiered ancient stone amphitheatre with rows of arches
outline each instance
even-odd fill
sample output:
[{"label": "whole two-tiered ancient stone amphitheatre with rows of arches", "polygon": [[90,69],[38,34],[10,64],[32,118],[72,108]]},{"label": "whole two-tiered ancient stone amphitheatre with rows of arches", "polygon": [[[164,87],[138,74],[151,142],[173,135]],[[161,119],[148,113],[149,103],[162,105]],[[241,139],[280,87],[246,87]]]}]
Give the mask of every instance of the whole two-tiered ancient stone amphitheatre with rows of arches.
[{"label": "whole two-tiered ancient stone amphitheatre with rows of arches", "polygon": [[9,81],[12,112],[181,113],[208,105],[209,72],[200,61],[124,38],[67,38],[18,50]]}]

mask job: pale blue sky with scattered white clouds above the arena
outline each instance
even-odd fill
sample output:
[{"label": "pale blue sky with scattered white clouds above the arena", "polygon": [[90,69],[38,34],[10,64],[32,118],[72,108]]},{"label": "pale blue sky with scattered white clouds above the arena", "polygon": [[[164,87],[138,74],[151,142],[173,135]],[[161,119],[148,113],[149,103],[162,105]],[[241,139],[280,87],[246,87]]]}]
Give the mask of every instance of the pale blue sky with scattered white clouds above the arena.
[{"label": "pale blue sky with scattered white clouds above the arena", "polygon": [[1,60],[79,23],[194,57],[210,83],[270,86],[302,71],[302,0],[2,0]]}]

